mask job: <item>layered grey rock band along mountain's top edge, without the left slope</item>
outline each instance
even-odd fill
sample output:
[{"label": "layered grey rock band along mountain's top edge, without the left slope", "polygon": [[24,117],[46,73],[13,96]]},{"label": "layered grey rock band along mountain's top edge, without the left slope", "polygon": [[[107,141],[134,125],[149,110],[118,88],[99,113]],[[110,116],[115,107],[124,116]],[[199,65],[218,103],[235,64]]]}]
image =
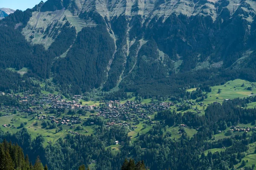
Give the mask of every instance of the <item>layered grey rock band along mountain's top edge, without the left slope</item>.
[{"label": "layered grey rock band along mountain's top edge, without the left slope", "polygon": [[[133,16],[141,15],[147,18],[163,17],[166,19],[171,14],[184,14],[186,16],[204,15],[211,16],[213,20],[227,9],[230,16],[236,10],[249,12],[250,16],[256,9],[256,2],[250,0],[48,0],[41,11],[55,11],[67,8],[74,15],[85,11],[94,11],[102,17],[115,17],[122,14]],[[247,16],[247,17],[250,17]]]}]

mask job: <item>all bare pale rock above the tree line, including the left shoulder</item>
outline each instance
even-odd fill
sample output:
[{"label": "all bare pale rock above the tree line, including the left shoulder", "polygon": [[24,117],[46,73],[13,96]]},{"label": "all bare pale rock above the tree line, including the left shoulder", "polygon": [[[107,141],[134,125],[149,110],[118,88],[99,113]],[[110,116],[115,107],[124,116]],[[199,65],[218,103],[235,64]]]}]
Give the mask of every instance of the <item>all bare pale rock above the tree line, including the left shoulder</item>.
[{"label": "all bare pale rock above the tree line, including the left shoulder", "polygon": [[223,22],[227,18],[242,17],[250,29],[256,11],[256,2],[251,0],[48,0],[46,3],[41,2],[39,6],[40,8],[33,12],[23,34],[26,40],[35,44],[42,43],[45,48],[54,41],[54,38],[44,34],[47,28],[59,28],[67,21],[76,27],[77,32],[86,26],[96,26],[93,18],[79,17],[85,12],[98,13],[108,20],[107,22],[125,15],[130,21],[130,31],[131,24],[137,19],[134,16],[140,16],[140,24],[147,28],[148,24],[154,21],[161,20],[164,23],[173,14],[211,17],[212,22],[218,18]]}]

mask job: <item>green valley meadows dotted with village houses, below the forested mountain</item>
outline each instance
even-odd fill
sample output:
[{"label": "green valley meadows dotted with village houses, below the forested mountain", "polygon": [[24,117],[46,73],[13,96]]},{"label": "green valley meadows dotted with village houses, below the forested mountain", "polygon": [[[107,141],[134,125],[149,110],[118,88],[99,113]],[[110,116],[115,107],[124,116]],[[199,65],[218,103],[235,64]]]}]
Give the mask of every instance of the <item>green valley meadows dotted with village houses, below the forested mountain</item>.
[{"label": "green valley meadows dotted with village houses, below the forested mountain", "polygon": [[[41,88],[45,89],[46,84],[42,84]],[[236,98],[252,97],[256,93],[253,82],[241,79],[226,82],[224,85],[213,86],[210,89],[210,92],[202,92],[202,94],[207,94],[207,97],[199,102],[200,95],[195,100],[183,100],[181,102],[169,99],[165,101],[141,99],[138,97],[120,101],[85,101],[85,98],[81,95],[67,99],[56,92],[49,91],[41,91],[42,93],[39,95],[31,94],[29,91],[19,94],[2,92],[1,96],[11,96],[17,99],[19,106],[1,106],[0,130],[17,133],[20,129],[26,128],[32,139],[42,136],[44,139],[43,146],[47,147],[49,144],[57,144],[56,142],[59,139],[65,139],[69,135],[96,135],[99,126],[106,128],[120,126],[127,128],[127,134],[133,143],[139,140],[140,135],[149,133],[155,125],[159,124],[160,120],[156,115],[161,111],[175,111],[177,114],[191,111],[200,116],[205,113],[208,105],[222,105],[223,101],[228,102]],[[199,90],[200,88],[187,89],[191,93]],[[250,102],[244,106],[244,108],[255,107],[256,102]],[[219,130],[209,141],[242,135],[244,131],[248,134],[256,131],[255,125],[251,123],[240,123],[226,128],[223,131]],[[172,140],[179,140],[184,134],[193,137],[198,130],[198,128],[186,124],[175,124],[165,127],[164,135],[169,135]],[[231,133],[227,134],[227,131],[230,130]],[[113,154],[120,153],[123,147],[122,141],[112,142],[106,146],[106,150],[110,148]],[[205,150],[204,153],[207,155],[208,151],[216,153],[221,150],[225,150],[225,148]],[[250,163],[246,163],[246,165],[251,166],[255,160],[250,150],[247,154],[248,156],[244,157],[243,160],[250,160],[247,161]],[[89,162],[87,163],[89,164]],[[90,164],[92,170],[94,166],[95,163]],[[241,166],[241,164],[237,166]]]}]

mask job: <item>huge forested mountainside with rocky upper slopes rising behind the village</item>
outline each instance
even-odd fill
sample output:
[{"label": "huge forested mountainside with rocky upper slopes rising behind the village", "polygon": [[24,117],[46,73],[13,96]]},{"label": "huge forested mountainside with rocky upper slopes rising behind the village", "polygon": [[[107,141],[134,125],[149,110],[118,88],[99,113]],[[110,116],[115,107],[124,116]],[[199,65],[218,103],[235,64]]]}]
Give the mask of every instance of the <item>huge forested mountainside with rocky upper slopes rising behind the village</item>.
[{"label": "huge forested mountainside with rocky upper slopes rising behind the village", "polygon": [[255,11],[253,0],[42,1],[1,21],[17,46],[0,47],[0,66],[30,68],[71,94],[164,96],[254,79]]}]

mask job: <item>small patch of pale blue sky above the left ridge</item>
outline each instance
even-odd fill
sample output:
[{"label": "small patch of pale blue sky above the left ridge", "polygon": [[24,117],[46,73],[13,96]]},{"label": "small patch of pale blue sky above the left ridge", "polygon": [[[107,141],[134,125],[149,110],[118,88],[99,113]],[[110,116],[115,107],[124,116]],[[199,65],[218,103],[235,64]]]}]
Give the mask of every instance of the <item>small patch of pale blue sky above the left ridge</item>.
[{"label": "small patch of pale blue sky above the left ridge", "polygon": [[[46,0],[43,1],[45,2]],[[27,8],[33,8],[40,2],[41,0],[0,0],[0,8],[20,9],[24,11]]]}]

